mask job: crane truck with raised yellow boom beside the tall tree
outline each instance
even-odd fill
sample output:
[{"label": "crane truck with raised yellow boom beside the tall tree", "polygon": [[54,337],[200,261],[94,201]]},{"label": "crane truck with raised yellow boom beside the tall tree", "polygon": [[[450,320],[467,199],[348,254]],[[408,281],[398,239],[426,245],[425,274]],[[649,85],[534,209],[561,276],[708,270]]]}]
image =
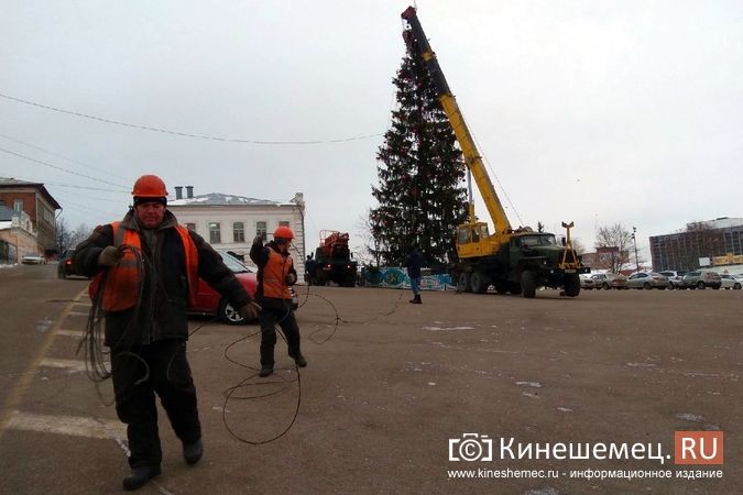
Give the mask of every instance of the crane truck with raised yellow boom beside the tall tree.
[{"label": "crane truck with raised yellow boom beside the tall tree", "polygon": [[537,287],[544,286],[561,288],[568,297],[578,296],[579,274],[589,273],[590,268],[582,266],[572,249],[570,229],[573,223],[562,222],[567,235],[560,244],[553,233],[535,232],[529,227],[512,228],[415,8],[408,7],[402,18],[408,26],[403,32],[408,53],[423,61],[434,80],[468,174],[474,178],[494,227],[491,234],[488,223],[478,221],[470,180],[467,222],[458,226],[455,234],[459,261],[452,275],[458,290],[483,294],[492,285],[499,294],[522,294],[532,298]]}]

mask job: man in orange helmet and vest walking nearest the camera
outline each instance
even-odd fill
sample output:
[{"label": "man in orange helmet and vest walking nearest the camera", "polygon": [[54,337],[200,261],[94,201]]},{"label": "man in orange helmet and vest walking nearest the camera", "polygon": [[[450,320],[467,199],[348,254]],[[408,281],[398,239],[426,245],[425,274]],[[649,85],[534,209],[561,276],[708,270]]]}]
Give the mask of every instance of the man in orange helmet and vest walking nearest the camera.
[{"label": "man in orange helmet and vest walking nearest the camera", "polygon": [[120,222],[97,227],[75,251],[81,275],[95,276],[91,296],[106,318],[116,410],[127,425],[136,490],[160,474],[162,450],[155,394],[195,464],[204,453],[196,387],[186,360],[187,304],[203,277],[236,307],[255,318],[260,306],[201,237],[178,226],[166,209],[167,190],[155,175],[134,184],[133,208]]}]

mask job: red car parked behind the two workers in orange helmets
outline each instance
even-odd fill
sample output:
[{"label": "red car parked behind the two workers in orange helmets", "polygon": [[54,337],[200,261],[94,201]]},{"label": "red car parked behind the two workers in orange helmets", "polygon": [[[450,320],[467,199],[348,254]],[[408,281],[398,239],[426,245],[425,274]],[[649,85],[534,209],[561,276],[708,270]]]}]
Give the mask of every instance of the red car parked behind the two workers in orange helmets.
[{"label": "red car parked behind the two workers in orange helmets", "polygon": [[[228,268],[234,273],[248,294],[255,296],[256,271],[249,268],[240,260],[229,254],[227,251],[217,250]],[[298,298],[294,290],[292,292],[292,305],[294,309],[298,307]],[[211,288],[204,279],[199,278],[198,292],[196,293],[196,302],[188,307],[188,311],[196,315],[216,315],[228,324],[247,323],[247,319],[240,317],[237,308],[233,308],[221,294]]]}]

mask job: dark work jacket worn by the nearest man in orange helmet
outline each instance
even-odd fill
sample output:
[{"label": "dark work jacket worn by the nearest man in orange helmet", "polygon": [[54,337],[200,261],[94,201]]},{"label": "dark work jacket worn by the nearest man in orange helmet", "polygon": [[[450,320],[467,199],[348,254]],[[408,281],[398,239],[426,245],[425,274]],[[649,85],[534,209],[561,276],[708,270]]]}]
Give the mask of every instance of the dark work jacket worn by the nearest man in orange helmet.
[{"label": "dark work jacket worn by the nearest man in orange helmet", "polygon": [[[186,253],[176,224],[175,216],[166,211],[157,229],[144,230],[136,223],[133,210],[119,224],[120,229],[133,229],[140,234],[144,282],[138,306],[106,314],[106,345],[125,349],[156,340],[188,338]],[[233,307],[240,308],[250,302],[252,298],[225,265],[219,253],[196,232],[189,234],[198,254],[199,277]],[[113,243],[111,224],[97,227],[75,250],[74,262],[78,272],[94,276],[105,270],[98,266],[98,255]],[[102,290],[106,290],[105,284]]]}]

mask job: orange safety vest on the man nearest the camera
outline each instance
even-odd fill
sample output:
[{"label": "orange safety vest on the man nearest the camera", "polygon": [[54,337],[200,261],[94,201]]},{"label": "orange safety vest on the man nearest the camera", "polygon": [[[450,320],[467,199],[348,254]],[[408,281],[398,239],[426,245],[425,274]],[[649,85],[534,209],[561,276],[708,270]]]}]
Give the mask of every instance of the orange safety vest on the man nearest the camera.
[{"label": "orange safety vest on the man nearest the camera", "polygon": [[[131,229],[120,229],[119,222],[112,222],[113,229],[113,245],[119,248],[121,245],[130,245],[136,251],[142,250],[142,242],[139,232]],[[186,253],[186,277],[188,280],[188,302],[193,305],[196,300],[196,292],[198,288],[198,253],[196,244],[188,234],[188,229],[182,226],[176,226],[176,231],[181,235],[184,251]],[[101,307],[106,311],[121,311],[133,307],[140,297],[142,267],[139,266],[134,250],[124,250],[123,257],[119,260],[116,266],[108,270],[106,275],[106,289]],[[98,295],[103,272],[98,272],[94,277],[88,293],[91,299]]]}]

